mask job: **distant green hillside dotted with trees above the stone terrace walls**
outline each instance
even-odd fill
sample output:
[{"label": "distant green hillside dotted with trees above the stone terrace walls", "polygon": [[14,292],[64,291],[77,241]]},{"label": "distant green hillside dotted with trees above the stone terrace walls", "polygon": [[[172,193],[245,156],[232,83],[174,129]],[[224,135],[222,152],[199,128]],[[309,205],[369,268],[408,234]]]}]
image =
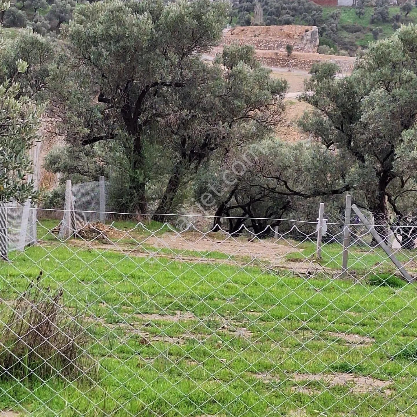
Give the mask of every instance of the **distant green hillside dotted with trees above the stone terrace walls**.
[{"label": "distant green hillside dotted with trees above the stone terrace walls", "polygon": [[[320,6],[309,0],[235,0],[231,24],[247,25],[314,25],[319,28],[319,53],[347,51],[355,55],[359,47],[386,38],[402,24],[417,22],[414,3],[391,7],[388,0],[377,0],[375,7]],[[258,5],[255,13],[255,6]]]}]

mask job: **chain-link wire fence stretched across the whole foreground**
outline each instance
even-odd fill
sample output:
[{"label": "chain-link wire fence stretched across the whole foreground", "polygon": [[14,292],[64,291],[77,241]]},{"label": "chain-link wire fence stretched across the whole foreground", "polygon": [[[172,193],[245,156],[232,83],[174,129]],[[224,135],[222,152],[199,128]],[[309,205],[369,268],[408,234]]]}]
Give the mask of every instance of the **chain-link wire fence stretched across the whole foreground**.
[{"label": "chain-link wire fence stretched across the whole foreground", "polygon": [[416,415],[417,252],[359,212],[262,235],[42,219],[0,261],[0,415]]}]

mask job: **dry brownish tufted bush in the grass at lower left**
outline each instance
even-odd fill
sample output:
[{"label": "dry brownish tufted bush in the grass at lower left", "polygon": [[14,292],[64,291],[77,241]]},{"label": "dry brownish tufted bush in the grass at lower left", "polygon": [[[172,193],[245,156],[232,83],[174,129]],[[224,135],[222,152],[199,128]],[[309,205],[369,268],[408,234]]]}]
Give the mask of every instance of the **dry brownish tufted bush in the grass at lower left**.
[{"label": "dry brownish tufted bush in the grass at lower left", "polygon": [[[61,305],[63,290],[40,288],[40,277],[31,282],[3,316],[0,331],[0,374],[22,380],[61,375],[76,378],[89,363],[89,336],[83,320]],[[4,311],[4,310],[3,310]],[[84,316],[82,316],[84,317]]]}]

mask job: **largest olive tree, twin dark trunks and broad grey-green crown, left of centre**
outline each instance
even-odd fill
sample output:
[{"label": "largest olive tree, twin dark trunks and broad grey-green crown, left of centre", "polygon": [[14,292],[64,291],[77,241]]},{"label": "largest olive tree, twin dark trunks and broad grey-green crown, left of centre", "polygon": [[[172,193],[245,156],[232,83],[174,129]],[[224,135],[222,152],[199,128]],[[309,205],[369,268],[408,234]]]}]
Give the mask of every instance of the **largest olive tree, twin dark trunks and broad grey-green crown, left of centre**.
[{"label": "largest olive tree, twin dark trunks and broad grey-green crown, left of centre", "polygon": [[61,132],[72,155],[119,163],[112,172],[123,185],[120,206],[144,213],[153,203],[163,219],[211,155],[256,140],[279,120],[286,83],[269,77],[252,48],[225,48],[212,64],[199,56],[219,41],[227,11],[209,0],[98,2],[76,11],[68,39],[78,67],[67,82],[78,87],[59,98]]}]

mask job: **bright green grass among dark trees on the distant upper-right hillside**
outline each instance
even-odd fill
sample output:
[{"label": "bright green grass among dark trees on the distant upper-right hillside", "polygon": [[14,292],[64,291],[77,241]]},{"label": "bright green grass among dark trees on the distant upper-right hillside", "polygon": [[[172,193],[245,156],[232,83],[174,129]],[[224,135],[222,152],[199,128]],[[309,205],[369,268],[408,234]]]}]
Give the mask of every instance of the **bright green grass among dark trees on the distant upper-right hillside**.
[{"label": "bright green grass among dark trees on the distant upper-right hillside", "polygon": [[[362,18],[359,18],[355,13],[355,8],[353,7],[332,7],[332,6],[323,6],[323,17],[327,18],[327,16],[332,13],[334,10],[340,10],[340,20],[339,20],[339,28],[342,27],[344,24],[357,24],[363,27],[362,33],[348,33],[342,28],[339,31],[339,34],[342,38],[347,40],[352,40],[356,43],[357,46],[367,47],[369,42],[374,42],[374,38],[372,37],[372,29],[374,28],[381,28],[382,33],[379,35],[379,39],[387,38],[394,33],[392,29],[392,22],[388,23],[370,23],[370,18],[374,13],[373,7],[366,7],[365,8],[365,15]],[[397,13],[402,13],[399,10],[399,7],[393,6],[389,8],[389,16],[392,18]],[[407,22],[417,22],[417,8],[414,7],[412,11],[409,13],[407,18],[405,18],[405,24]]]}]

